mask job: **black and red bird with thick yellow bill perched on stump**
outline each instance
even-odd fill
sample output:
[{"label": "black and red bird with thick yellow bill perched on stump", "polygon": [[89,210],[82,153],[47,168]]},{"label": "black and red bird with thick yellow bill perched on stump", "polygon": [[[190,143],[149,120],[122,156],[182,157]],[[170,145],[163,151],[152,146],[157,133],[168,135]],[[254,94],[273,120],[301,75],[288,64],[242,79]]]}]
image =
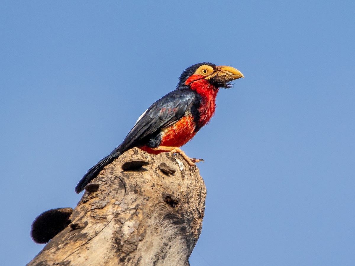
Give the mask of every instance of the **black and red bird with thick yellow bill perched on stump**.
[{"label": "black and red bird with thick yellow bill perched on stump", "polygon": [[238,78],[244,78],[243,74],[230,66],[204,62],[186,68],[176,89],[142,113],[123,142],[87,171],[75,192],[80,193],[106,165],[133,147],[151,154],[179,153],[191,166],[203,161],[188,157],[180,147],[214,115],[219,88],[232,88],[230,82]]}]

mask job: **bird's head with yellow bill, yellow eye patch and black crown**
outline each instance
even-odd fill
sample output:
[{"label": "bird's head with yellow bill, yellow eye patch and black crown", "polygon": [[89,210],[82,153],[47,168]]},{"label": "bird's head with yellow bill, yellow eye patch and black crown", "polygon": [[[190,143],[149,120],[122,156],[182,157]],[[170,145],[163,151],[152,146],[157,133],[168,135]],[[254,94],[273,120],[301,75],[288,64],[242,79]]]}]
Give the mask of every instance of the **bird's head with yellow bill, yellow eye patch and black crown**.
[{"label": "bird's head with yellow bill, yellow eye patch and black crown", "polygon": [[[230,66],[216,66],[211,63],[199,63],[186,68],[182,72],[178,87],[189,85],[191,88],[196,85],[209,85],[213,89],[232,88],[229,82],[244,78],[243,74]],[[212,86],[211,86],[212,85]]]}]

